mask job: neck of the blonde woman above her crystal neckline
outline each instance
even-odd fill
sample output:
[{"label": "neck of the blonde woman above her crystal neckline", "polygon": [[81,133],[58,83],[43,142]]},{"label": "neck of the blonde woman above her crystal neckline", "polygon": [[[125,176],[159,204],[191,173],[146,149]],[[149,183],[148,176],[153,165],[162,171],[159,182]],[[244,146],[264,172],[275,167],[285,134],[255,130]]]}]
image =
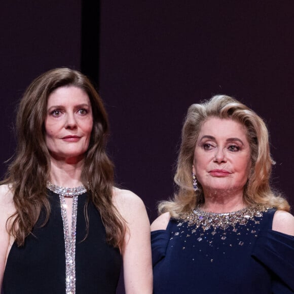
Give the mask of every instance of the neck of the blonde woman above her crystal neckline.
[{"label": "neck of the blonde woman above her crystal neckline", "polygon": [[210,212],[231,212],[247,206],[243,200],[243,191],[205,191],[204,199],[201,209]]}]

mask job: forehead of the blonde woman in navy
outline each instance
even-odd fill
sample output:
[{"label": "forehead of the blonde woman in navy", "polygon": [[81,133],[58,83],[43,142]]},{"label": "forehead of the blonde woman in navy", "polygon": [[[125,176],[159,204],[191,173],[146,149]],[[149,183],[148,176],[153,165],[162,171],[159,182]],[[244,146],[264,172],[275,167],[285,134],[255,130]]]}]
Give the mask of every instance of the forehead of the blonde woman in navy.
[{"label": "forehead of the blonde woman in navy", "polygon": [[240,122],[232,119],[209,118],[201,126],[199,137],[213,136],[215,138],[240,138],[247,140],[247,130]]}]

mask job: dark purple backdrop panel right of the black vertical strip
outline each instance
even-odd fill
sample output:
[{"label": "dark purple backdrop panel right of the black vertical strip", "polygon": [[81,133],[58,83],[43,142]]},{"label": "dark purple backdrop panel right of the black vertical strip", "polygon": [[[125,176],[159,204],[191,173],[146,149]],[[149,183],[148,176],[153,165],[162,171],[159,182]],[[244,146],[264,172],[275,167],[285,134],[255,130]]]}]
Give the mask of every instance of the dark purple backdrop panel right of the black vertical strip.
[{"label": "dark purple backdrop panel right of the black vertical strip", "polygon": [[102,1],[100,93],[118,182],[155,203],[173,193],[190,104],[228,94],[267,122],[273,184],[291,204],[294,17],[291,1]]}]

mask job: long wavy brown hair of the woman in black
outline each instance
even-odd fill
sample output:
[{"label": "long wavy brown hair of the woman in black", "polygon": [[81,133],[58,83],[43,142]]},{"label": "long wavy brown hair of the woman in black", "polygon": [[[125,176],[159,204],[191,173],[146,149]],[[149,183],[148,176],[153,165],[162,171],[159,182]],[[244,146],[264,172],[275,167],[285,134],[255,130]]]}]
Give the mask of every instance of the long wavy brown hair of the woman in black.
[{"label": "long wavy brown hair of the woman in black", "polygon": [[[87,187],[89,197],[101,214],[106,230],[106,241],[115,246],[123,245],[125,222],[113,204],[114,165],[105,152],[108,135],[108,119],[102,100],[95,88],[81,72],[69,68],[49,70],[36,78],[26,89],[17,112],[17,149],[2,183],[11,187],[16,212],[10,233],[19,246],[35,226],[42,208],[48,221],[50,204],[46,182],[49,179],[50,155],[45,143],[44,121],[47,100],[57,88],[75,86],[84,90],[91,101],[93,129],[81,181]],[[88,222],[87,209],[85,217]]]}]

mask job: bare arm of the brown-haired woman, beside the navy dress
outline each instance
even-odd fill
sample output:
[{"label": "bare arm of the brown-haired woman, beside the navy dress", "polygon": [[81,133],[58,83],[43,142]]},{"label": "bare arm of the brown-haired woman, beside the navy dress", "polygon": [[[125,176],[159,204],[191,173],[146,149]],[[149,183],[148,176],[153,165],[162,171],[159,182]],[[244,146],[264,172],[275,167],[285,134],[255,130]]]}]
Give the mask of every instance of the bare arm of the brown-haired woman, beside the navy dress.
[{"label": "bare arm of the brown-haired woman, beside the navy dress", "polygon": [[115,189],[114,203],[128,226],[122,250],[126,294],[151,294],[150,222],[145,206],[132,192],[119,189]]}]

